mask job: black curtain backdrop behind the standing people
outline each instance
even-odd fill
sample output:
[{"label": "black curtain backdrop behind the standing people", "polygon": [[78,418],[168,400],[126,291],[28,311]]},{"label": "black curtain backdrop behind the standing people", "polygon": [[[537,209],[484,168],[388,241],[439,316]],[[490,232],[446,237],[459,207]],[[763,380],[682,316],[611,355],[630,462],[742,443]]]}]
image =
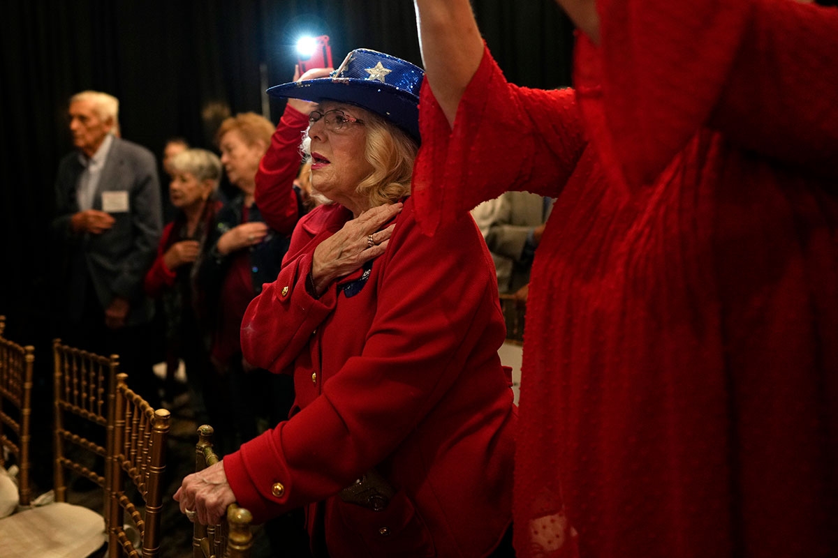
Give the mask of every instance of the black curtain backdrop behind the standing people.
[{"label": "black curtain backdrop behind the standing people", "polygon": [[[475,0],[510,81],[569,83],[572,31],[553,0]],[[0,314],[7,335],[49,346],[54,177],[71,150],[67,100],[120,100],[122,136],[160,157],[168,137],[215,150],[220,120],[277,122],[267,86],[292,78],[301,33],[328,34],[334,64],[358,47],[422,64],[410,0],[7,0],[0,33]],[[168,185],[162,177],[164,201]],[[47,353],[48,355],[48,353]]]}]

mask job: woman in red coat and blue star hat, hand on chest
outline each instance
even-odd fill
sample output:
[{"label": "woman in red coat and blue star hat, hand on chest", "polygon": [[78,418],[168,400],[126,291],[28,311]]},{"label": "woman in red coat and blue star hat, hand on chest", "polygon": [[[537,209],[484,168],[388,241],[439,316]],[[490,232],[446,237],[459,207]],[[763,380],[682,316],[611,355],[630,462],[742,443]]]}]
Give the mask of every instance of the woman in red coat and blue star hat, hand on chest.
[{"label": "woman in red coat and blue star hat, hand on chest", "polygon": [[291,416],[184,479],[175,499],[196,520],[233,501],[257,521],[307,506],[316,555],[509,555],[504,321],[473,221],[416,227],[422,76],[359,49],[332,77],[269,90],[319,103],[304,149],[331,203],[298,223],[241,326],[248,361],[293,375]]}]

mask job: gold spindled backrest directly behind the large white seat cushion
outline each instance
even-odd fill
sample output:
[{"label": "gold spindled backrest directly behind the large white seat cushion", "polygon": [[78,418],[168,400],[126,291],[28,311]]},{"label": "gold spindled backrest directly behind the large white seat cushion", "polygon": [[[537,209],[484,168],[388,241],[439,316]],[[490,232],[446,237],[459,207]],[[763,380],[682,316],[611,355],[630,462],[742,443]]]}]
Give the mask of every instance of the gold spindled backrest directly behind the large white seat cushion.
[{"label": "gold spindled backrest directly behind the large white seat cushion", "polygon": [[101,356],[53,340],[54,490],[67,501],[65,471],[102,488],[102,514],[110,493],[106,458],[113,438],[113,393],[119,357]]}]

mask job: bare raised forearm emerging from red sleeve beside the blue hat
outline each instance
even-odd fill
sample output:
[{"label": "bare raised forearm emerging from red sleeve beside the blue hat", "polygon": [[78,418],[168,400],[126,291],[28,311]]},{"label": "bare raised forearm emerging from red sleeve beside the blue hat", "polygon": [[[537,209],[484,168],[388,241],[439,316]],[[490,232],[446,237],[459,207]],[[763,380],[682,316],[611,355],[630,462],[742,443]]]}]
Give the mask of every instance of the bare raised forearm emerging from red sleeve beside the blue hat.
[{"label": "bare raised forearm emerging from red sleeve beside the blue hat", "polygon": [[428,84],[453,124],[483,57],[483,38],[468,0],[414,0],[414,4]]}]

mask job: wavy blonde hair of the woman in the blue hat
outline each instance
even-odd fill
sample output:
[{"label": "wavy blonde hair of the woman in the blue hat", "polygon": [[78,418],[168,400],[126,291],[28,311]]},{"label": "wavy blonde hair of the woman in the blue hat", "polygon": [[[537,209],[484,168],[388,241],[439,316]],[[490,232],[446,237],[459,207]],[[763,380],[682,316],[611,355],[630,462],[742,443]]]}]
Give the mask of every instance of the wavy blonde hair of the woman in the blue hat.
[{"label": "wavy blonde hair of the woman in the blue hat", "polygon": [[[363,107],[362,107],[363,108]],[[419,146],[405,131],[391,124],[382,116],[366,110],[365,159],[373,171],[358,184],[355,192],[370,200],[370,207],[397,202],[411,193],[413,161]],[[311,140],[308,133],[303,138],[301,151],[306,161],[311,161]],[[312,196],[321,203],[331,203],[313,187]]]}]

